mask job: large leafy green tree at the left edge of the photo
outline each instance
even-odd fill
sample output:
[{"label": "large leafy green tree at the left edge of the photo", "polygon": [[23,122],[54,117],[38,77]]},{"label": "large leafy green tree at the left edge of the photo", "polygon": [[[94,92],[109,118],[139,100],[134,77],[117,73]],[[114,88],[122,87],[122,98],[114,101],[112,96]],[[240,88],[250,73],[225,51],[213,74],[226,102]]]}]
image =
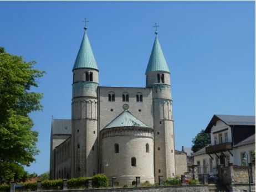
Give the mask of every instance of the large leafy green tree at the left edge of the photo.
[{"label": "large leafy green tree at the left edge of the photo", "polygon": [[[34,64],[0,48],[0,168],[6,167],[10,173],[13,166],[29,166],[39,152],[38,133],[32,131],[33,121],[28,114],[42,110],[43,95],[29,90],[38,86],[37,79],[44,71],[34,69]],[[4,173],[0,172],[2,181]]]}]

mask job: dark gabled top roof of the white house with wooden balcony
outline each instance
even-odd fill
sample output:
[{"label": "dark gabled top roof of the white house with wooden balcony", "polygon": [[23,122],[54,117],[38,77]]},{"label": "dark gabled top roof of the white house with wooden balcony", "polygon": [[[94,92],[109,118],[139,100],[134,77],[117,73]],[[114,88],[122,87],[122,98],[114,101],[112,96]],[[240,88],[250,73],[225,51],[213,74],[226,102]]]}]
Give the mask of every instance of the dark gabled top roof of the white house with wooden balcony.
[{"label": "dark gabled top roof of the white house with wooden balcony", "polygon": [[217,121],[222,121],[228,126],[255,126],[255,116],[243,115],[213,115],[204,132],[210,133],[211,128]]}]

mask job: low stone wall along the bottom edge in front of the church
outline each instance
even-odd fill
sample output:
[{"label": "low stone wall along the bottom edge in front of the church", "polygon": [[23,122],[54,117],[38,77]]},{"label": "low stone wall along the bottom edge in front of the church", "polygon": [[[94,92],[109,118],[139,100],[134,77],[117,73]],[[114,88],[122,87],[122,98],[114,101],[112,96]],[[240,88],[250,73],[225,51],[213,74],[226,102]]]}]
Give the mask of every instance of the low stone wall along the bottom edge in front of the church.
[{"label": "low stone wall along the bottom edge in front of the church", "polygon": [[[45,192],[55,192],[57,190],[47,190]],[[208,185],[173,185],[173,186],[146,186],[146,187],[137,187],[137,188],[105,188],[105,189],[73,189],[66,190],[68,192],[87,192],[87,191],[98,191],[98,192],[208,192]],[[43,192],[43,191],[42,191]]]}]

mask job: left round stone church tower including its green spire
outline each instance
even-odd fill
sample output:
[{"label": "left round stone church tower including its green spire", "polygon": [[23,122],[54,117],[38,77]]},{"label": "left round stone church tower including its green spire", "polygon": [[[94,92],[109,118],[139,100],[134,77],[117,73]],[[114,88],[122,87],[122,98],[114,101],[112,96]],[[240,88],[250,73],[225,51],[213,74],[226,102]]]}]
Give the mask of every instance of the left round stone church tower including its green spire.
[{"label": "left round stone church tower including its green spire", "polygon": [[98,66],[84,27],[73,67],[71,178],[98,173]]}]

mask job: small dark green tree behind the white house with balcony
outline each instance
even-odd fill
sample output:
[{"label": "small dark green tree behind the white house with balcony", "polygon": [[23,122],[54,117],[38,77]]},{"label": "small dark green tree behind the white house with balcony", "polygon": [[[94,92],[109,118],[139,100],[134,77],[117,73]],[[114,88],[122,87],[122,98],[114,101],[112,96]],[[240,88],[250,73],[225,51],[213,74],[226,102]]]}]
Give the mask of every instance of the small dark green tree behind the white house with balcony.
[{"label": "small dark green tree behind the white house with balcony", "polygon": [[199,133],[197,133],[196,137],[192,139],[192,148],[193,152],[197,152],[199,149],[206,147],[207,144],[211,143],[210,133],[204,133],[202,129]]}]

